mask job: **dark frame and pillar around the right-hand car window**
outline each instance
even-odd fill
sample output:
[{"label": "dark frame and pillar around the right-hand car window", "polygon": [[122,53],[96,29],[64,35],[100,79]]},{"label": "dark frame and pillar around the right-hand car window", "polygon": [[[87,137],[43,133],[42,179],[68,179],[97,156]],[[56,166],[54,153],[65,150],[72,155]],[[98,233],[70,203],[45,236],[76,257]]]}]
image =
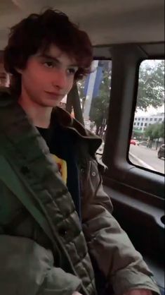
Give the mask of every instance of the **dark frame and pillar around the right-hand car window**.
[{"label": "dark frame and pillar around the right-hand car window", "polygon": [[[160,47],[162,49],[163,44]],[[150,194],[150,201],[157,197],[161,203],[164,199],[164,175],[132,164],[128,159],[128,149],[136,109],[140,64],[146,59],[164,59],[162,50],[160,54],[150,56],[139,44],[118,44],[109,50],[112,56],[112,90],[103,152],[103,162],[108,169],[103,181],[107,185],[123,183],[123,186],[134,187],[141,195]],[[95,59],[100,59],[100,56],[97,55]],[[115,114],[118,114],[118,125]]]}]

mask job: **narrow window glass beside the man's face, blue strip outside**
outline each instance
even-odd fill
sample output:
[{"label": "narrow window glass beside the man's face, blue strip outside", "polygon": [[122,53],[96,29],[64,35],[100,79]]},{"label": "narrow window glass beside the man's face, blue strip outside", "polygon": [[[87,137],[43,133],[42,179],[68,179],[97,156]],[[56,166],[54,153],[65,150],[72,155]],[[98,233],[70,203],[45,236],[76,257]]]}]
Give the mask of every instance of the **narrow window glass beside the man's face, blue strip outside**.
[{"label": "narrow window glass beside the man's face, blue strip outside", "polygon": [[84,124],[103,139],[98,157],[103,154],[107,115],[110,104],[112,61],[93,61],[94,71],[77,83]]}]

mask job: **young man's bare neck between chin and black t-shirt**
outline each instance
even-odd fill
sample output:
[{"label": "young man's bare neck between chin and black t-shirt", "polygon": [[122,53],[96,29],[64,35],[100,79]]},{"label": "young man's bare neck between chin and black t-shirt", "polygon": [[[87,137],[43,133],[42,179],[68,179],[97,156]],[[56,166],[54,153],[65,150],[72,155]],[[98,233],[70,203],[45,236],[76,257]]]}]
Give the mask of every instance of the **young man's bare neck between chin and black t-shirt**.
[{"label": "young man's bare neck between chin and black t-shirt", "polygon": [[40,128],[48,128],[51,121],[51,112],[52,107],[44,107],[32,100],[29,100],[28,97],[19,97],[18,103],[24,109],[29,119],[32,120],[34,126]]}]

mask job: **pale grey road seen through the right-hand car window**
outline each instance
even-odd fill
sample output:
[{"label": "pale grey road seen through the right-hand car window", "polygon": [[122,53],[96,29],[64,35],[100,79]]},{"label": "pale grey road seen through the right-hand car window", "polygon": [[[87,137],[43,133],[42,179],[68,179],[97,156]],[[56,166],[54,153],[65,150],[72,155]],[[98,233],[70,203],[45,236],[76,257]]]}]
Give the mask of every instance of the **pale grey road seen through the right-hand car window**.
[{"label": "pale grey road seen through the right-hand car window", "polygon": [[131,145],[129,152],[129,159],[133,164],[138,164],[164,174],[164,159],[158,159],[157,150],[152,150],[142,145]]}]

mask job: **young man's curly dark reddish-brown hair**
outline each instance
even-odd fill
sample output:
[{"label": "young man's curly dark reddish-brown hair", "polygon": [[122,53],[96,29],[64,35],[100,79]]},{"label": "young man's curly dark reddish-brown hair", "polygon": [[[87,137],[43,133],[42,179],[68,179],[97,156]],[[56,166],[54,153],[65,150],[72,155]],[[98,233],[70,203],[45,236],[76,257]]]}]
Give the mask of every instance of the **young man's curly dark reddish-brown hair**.
[{"label": "young man's curly dark reddish-brown hair", "polygon": [[74,80],[91,72],[93,49],[88,35],[79,30],[65,13],[49,8],[44,13],[32,13],[11,28],[8,45],[4,49],[4,67],[12,74],[13,94],[21,93],[21,75],[16,68],[25,68],[29,56],[39,50],[46,52],[51,44],[76,59],[79,68]]}]

